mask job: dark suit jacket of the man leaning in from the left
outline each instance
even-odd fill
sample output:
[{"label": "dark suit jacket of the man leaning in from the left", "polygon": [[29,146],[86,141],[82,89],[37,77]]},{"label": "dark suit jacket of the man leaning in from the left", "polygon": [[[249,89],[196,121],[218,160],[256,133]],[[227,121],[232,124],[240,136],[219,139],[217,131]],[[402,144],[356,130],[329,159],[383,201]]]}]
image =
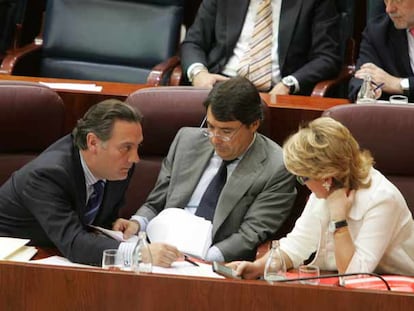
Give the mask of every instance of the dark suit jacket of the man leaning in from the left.
[{"label": "dark suit jacket of the man leaning in from the left", "polygon": [[[112,227],[124,204],[128,183],[129,177],[107,181],[94,225]],[[56,246],[71,261],[100,265],[103,250],[118,248],[119,242],[87,230],[81,217],[85,202],[79,150],[67,135],[16,171],[0,188],[0,236],[27,238],[37,246]]]}]

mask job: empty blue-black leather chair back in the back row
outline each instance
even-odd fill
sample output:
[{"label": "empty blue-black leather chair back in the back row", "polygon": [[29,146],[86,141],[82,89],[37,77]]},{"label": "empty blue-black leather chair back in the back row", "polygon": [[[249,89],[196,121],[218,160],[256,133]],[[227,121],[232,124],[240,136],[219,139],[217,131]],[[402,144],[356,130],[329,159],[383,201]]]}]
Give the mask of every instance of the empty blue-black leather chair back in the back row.
[{"label": "empty blue-black leather chair back in the back row", "polygon": [[145,83],[175,55],[183,0],[49,0],[40,76]]}]

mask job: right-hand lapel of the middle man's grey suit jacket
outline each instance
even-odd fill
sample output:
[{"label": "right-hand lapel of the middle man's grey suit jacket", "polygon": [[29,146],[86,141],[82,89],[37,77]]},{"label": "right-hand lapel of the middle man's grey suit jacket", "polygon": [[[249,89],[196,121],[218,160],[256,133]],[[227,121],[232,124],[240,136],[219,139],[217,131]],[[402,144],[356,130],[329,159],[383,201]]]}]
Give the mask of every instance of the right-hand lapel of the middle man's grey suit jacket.
[{"label": "right-hand lapel of the middle man's grey suit jacket", "polygon": [[256,178],[263,172],[267,155],[259,137],[233,171],[217,203],[213,221],[213,237]]}]

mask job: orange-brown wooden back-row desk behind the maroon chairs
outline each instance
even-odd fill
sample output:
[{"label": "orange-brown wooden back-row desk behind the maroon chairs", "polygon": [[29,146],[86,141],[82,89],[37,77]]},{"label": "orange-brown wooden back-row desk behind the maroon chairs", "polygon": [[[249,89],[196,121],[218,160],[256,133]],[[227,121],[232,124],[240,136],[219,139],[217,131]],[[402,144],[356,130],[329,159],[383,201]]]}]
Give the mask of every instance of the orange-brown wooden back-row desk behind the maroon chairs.
[{"label": "orange-brown wooden back-row desk behind the maroon chairs", "polygon": [[[83,116],[86,110],[97,102],[117,98],[125,100],[132,92],[148,87],[145,84],[128,84],[102,81],[82,81],[55,78],[39,78],[26,76],[0,75],[0,80],[15,80],[26,82],[52,83],[95,83],[102,86],[102,92],[74,91],[56,89],[63,99],[66,108],[65,132],[72,131],[76,121]],[[349,103],[347,99],[321,98],[309,96],[270,96],[261,94],[270,110],[270,137],[280,145],[290,134],[297,131],[299,124],[319,117],[322,112],[335,105]]]}]

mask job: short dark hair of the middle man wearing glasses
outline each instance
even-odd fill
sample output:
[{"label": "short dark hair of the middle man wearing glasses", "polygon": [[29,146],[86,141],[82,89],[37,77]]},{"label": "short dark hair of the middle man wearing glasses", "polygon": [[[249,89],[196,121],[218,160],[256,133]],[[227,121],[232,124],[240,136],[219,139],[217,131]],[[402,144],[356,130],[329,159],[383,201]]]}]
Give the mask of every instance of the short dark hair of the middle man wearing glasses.
[{"label": "short dark hair of the middle man wearing glasses", "polygon": [[262,101],[256,87],[248,79],[235,77],[218,82],[203,103],[221,122],[240,121],[250,125],[263,120]]}]

